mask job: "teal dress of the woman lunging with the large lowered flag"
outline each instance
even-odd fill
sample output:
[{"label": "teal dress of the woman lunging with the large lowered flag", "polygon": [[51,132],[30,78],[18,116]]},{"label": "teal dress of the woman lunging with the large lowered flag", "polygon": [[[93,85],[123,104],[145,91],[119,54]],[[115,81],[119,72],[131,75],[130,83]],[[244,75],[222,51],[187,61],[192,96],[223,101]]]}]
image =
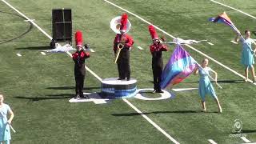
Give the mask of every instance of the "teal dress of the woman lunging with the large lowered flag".
[{"label": "teal dress of the woman lunging with the large lowered flag", "polygon": [[206,94],[209,94],[212,98],[217,98],[214,91],[214,86],[211,84],[208,77],[210,70],[210,67],[198,69],[200,75],[198,93],[202,98],[202,101],[206,100]]}]

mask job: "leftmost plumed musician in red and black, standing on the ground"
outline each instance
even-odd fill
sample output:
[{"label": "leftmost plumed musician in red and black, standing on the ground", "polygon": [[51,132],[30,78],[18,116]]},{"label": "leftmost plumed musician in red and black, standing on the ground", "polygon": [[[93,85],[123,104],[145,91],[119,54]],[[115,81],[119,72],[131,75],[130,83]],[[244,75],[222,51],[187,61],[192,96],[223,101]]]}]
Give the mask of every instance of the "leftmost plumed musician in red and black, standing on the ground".
[{"label": "leftmost plumed musician in red and black, standing on the ground", "polygon": [[87,98],[83,95],[83,85],[86,75],[85,59],[90,57],[90,54],[82,48],[82,32],[75,33],[75,42],[77,51],[72,54],[74,60],[74,78],[75,78],[75,98]]}]

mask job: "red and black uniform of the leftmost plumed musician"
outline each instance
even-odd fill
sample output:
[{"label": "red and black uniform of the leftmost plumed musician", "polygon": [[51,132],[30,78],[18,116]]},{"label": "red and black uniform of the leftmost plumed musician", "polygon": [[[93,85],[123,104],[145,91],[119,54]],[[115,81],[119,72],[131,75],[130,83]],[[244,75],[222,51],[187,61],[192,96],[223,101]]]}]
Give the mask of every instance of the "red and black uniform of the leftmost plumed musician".
[{"label": "red and black uniform of the leftmost plumed musician", "polygon": [[90,58],[90,54],[84,50],[76,51],[72,54],[74,60],[74,78],[75,78],[75,93],[79,97],[83,97],[83,84],[86,75],[85,60]]}]

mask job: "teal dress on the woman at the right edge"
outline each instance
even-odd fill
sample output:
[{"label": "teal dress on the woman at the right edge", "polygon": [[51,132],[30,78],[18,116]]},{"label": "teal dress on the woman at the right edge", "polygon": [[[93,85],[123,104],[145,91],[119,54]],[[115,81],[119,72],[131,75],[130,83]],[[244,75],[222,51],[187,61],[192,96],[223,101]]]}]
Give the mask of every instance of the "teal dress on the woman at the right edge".
[{"label": "teal dress on the woman at the right edge", "polygon": [[252,38],[247,38],[245,41],[240,39],[242,42],[242,58],[241,63],[244,66],[252,66],[254,64],[254,54],[252,53],[251,44],[255,43]]}]

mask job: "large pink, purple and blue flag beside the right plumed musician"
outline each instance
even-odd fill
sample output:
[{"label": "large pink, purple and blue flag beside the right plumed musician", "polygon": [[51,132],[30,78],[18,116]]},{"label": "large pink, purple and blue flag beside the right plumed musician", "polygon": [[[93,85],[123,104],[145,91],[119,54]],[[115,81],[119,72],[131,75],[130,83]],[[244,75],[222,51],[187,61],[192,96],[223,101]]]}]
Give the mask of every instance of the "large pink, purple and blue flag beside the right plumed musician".
[{"label": "large pink, purple and blue flag beside the right plumed musician", "polygon": [[182,82],[183,79],[193,73],[194,69],[198,66],[197,63],[182,46],[177,45],[169,62],[162,71],[161,89]]}]

